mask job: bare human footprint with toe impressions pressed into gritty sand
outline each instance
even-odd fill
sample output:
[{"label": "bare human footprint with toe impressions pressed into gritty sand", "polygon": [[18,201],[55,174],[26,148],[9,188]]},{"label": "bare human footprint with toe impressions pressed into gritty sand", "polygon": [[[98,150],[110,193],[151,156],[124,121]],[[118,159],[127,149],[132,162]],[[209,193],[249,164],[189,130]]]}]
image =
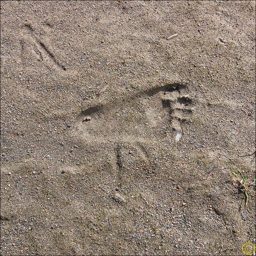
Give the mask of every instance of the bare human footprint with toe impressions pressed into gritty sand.
[{"label": "bare human footprint with toe impressions pressed into gritty sand", "polygon": [[167,84],[127,96],[120,94],[110,102],[87,104],[77,122],[80,134],[100,140],[157,143],[173,133],[178,141],[182,123],[190,122],[192,115],[193,100],[184,94],[186,89],[184,84]]}]

